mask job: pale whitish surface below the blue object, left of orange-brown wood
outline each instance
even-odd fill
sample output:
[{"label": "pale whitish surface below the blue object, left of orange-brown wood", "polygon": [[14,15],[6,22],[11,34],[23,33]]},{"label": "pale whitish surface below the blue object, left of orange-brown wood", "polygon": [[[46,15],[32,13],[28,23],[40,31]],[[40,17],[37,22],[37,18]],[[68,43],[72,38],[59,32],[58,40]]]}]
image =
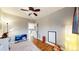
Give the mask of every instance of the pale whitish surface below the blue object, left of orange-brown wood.
[{"label": "pale whitish surface below the blue object, left of orange-brown wood", "polygon": [[23,41],[16,44],[12,44],[10,51],[40,51],[32,41]]}]

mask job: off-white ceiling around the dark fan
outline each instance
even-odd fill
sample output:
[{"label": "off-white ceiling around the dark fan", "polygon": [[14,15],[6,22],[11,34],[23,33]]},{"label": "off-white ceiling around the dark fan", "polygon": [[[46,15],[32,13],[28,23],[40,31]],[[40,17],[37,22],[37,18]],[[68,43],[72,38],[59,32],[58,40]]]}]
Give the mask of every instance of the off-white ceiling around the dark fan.
[{"label": "off-white ceiling around the dark fan", "polygon": [[54,13],[55,11],[62,9],[63,7],[34,7],[40,9],[40,12],[38,12],[38,16],[34,16],[34,15],[28,16],[28,12],[21,11],[20,10],[21,8],[25,8],[25,7],[2,7],[1,10],[5,13],[12,14],[15,16],[20,16],[28,19],[40,19],[42,17]]}]

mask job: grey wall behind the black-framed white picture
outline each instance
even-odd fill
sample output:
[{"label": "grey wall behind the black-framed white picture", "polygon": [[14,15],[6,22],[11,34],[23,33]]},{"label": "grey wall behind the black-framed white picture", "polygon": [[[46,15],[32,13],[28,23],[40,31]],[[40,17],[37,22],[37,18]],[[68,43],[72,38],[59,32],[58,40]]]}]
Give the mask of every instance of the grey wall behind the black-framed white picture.
[{"label": "grey wall behind the black-framed white picture", "polygon": [[44,18],[38,19],[38,36],[46,36],[48,42],[48,31],[57,32],[57,44],[64,47],[66,21],[71,22],[73,8],[63,8]]}]

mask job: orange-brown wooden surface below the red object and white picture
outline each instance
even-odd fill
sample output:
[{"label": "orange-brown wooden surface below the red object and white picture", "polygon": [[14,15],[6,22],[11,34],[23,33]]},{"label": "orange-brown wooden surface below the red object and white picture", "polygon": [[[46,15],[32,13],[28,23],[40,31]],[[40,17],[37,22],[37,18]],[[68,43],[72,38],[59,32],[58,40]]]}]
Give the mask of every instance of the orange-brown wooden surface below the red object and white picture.
[{"label": "orange-brown wooden surface below the red object and white picture", "polygon": [[42,51],[61,51],[61,48],[58,45],[43,43],[41,40],[38,39],[34,39],[33,43]]}]

